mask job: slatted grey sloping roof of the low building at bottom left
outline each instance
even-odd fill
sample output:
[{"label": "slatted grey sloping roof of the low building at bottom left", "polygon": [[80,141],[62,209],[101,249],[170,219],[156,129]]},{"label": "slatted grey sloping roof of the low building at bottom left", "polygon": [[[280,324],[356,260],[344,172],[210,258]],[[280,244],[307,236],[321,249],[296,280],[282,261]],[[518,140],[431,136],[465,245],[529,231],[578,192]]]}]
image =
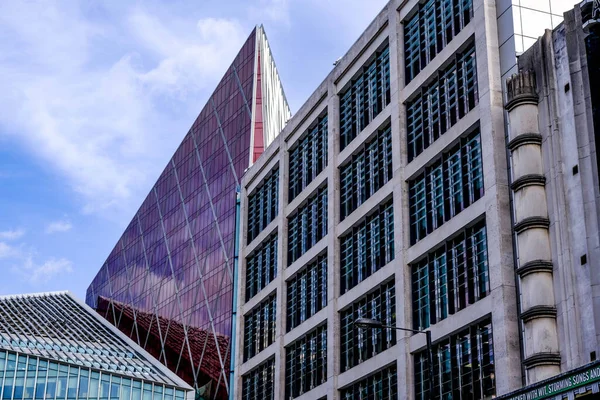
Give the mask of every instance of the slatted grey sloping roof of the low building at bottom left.
[{"label": "slatted grey sloping roof of the low building at bottom left", "polygon": [[191,390],[69,292],[0,296],[0,350]]}]

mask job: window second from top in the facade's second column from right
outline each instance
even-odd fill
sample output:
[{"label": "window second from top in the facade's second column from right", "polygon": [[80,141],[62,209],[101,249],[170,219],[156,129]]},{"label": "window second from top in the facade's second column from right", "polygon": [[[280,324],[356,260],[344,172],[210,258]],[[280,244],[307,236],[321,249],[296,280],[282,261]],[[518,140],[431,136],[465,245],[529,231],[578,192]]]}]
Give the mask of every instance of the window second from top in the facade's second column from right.
[{"label": "window second from top in the facade's second column from right", "polygon": [[392,179],[392,130],[380,129],[375,138],[340,169],[341,219],[346,218]]}]

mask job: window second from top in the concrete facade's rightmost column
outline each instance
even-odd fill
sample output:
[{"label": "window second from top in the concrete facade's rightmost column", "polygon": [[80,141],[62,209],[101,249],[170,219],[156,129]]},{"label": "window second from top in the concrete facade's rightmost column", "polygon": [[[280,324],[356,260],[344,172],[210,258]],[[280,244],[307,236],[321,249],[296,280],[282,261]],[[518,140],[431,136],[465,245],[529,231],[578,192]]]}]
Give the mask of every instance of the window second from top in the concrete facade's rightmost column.
[{"label": "window second from top in the concrete facade's rightmost column", "polygon": [[457,54],[445,70],[406,104],[408,161],[421,154],[477,105],[475,45]]}]

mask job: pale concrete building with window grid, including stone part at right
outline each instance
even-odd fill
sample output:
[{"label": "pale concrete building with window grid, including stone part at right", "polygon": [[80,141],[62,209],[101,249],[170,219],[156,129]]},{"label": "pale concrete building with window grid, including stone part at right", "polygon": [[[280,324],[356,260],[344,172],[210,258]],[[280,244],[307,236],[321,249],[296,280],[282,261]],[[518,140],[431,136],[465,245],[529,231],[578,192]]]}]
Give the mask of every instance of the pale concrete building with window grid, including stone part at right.
[{"label": "pale concrete building with window grid, including stone part at right", "polygon": [[[525,46],[514,14],[531,11],[512,3],[390,1],[246,172],[236,398],[489,399],[594,357],[593,128],[580,142],[553,126],[540,146],[534,128],[556,118],[505,97]],[[575,135],[586,118],[570,104]],[[578,154],[585,195],[558,175]],[[429,330],[433,376],[424,334],[362,317]]]}]

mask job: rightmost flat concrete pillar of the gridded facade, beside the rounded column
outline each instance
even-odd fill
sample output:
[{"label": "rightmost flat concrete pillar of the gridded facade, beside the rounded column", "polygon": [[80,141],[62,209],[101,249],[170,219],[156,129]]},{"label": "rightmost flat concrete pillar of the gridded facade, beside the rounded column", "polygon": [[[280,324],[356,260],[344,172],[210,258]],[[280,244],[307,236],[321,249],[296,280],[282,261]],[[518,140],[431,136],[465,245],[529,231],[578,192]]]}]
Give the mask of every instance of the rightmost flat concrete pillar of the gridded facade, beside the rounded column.
[{"label": "rightmost flat concrete pillar of the gridded facade, beside the rounded column", "polygon": [[[522,385],[495,1],[473,2],[496,393]],[[435,340],[435,335],[434,335]]]}]

